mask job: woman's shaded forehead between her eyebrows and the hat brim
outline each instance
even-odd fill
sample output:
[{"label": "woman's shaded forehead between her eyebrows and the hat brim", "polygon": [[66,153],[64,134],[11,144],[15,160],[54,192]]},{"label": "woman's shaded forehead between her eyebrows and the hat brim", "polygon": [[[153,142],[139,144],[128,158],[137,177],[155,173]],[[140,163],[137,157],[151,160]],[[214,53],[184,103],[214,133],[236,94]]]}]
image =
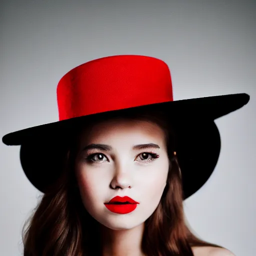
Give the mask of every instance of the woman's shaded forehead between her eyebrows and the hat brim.
[{"label": "woman's shaded forehead between her eyebrows and the hat brim", "polygon": [[148,120],[139,119],[109,119],[84,127],[80,133],[83,141],[111,140],[118,138],[121,141],[127,139],[153,139],[164,140],[162,128]]}]

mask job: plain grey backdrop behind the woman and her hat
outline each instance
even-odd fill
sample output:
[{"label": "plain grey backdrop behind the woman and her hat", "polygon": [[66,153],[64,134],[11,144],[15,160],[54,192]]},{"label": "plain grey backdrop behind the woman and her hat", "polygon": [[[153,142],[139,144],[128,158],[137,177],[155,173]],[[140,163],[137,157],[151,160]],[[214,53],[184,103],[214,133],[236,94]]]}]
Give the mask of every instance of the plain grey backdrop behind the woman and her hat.
[{"label": "plain grey backdrop behind the woman and her hat", "polygon": [[[108,55],[164,60],[174,100],[246,92],[247,105],[216,119],[219,160],[184,209],[199,237],[254,255],[255,12],[255,0],[2,0],[0,137],[57,121],[61,76]],[[21,255],[21,228],[39,192],[23,174],[19,146],[1,142],[0,157],[0,255]]]}]

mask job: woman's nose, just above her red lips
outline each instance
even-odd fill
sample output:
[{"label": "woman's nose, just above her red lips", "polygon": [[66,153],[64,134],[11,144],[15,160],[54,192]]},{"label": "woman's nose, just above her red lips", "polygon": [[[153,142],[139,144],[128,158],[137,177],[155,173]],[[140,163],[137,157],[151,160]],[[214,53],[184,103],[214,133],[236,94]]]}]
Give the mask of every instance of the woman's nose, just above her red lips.
[{"label": "woman's nose, just above her red lips", "polygon": [[110,182],[110,187],[117,188],[131,188],[131,177],[129,175],[128,168],[124,166],[117,166],[115,168],[114,176]]}]

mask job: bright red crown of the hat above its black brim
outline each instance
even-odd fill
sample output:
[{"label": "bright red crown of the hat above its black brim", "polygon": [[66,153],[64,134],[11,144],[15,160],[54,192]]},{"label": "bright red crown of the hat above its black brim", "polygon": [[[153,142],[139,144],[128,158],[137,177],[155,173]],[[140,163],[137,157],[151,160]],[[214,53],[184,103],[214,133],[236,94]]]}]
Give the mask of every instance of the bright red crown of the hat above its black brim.
[{"label": "bright red crown of the hat above its black brim", "polygon": [[95,59],[71,69],[57,85],[59,120],[172,100],[167,64],[148,56]]}]

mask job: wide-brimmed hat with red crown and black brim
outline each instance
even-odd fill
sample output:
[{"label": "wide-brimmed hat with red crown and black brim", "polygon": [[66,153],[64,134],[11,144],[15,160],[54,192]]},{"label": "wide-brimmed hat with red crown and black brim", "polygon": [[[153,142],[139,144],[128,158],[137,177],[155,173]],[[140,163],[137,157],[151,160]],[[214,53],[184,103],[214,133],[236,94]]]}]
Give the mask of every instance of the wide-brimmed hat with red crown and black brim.
[{"label": "wide-brimmed hat with red crown and black brim", "polygon": [[246,93],[173,100],[165,62],[141,55],[108,56],[81,64],[60,79],[58,121],[8,133],[2,141],[21,145],[25,175],[45,192],[63,169],[60,165],[74,127],[107,115],[159,110],[173,124],[185,199],[207,181],[217,163],[220,136],[214,119],[248,101]]}]

